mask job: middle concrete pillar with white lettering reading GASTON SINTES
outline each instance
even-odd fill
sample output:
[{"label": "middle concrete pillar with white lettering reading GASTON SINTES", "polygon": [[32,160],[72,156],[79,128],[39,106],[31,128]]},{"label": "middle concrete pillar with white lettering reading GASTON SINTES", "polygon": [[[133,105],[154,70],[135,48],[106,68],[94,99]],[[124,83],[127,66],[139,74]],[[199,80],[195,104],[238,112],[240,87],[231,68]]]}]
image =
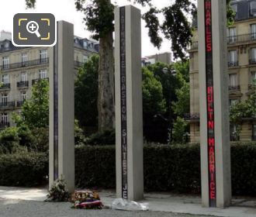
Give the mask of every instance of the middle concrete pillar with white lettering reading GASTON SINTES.
[{"label": "middle concrete pillar with white lettering reading GASTON SINTES", "polygon": [[115,10],[116,195],[144,198],[140,10]]}]

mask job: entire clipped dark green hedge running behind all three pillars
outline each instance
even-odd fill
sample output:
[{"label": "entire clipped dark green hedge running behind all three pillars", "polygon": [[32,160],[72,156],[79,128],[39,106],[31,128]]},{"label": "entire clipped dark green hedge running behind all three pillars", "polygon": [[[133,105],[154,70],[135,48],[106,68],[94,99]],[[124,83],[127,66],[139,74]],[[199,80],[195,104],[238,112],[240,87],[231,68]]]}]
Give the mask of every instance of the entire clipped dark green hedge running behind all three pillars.
[{"label": "entire clipped dark green hedge running behind all three pillars", "polygon": [[[116,187],[115,146],[77,146],[75,181],[78,188]],[[207,167],[207,165],[206,165]],[[234,195],[256,195],[256,143],[231,146]],[[33,186],[46,181],[46,153],[0,155],[0,185]],[[145,191],[200,192],[200,147],[144,146]]]}]

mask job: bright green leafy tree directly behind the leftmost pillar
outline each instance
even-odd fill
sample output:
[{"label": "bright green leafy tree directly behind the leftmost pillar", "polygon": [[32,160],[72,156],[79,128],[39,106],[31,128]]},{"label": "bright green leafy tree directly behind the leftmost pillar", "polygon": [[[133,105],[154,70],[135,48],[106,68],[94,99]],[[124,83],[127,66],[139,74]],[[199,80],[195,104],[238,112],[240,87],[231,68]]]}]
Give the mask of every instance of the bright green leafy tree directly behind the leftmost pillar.
[{"label": "bright green leafy tree directly behind the leftmost pillar", "polygon": [[[49,81],[41,79],[33,84],[32,97],[22,105],[21,114],[12,113],[19,133],[21,146],[38,151],[48,150],[49,139]],[[74,140],[81,143],[84,139],[78,121],[74,120]],[[30,147],[31,146],[31,147]]]}]

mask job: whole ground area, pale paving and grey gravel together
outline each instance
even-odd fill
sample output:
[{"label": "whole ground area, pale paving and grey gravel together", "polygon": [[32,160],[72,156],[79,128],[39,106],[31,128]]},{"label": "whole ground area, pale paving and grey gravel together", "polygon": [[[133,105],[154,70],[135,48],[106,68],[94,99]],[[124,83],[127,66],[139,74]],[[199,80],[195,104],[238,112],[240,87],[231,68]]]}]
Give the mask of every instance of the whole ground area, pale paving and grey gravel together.
[{"label": "whole ground area, pale paving and grey gravel together", "polygon": [[[105,209],[102,211],[73,210],[69,204],[45,203],[47,188],[10,188],[0,186],[0,217],[67,217],[67,216],[222,216],[255,217],[256,198],[233,198],[230,208],[202,208],[197,195],[174,195],[171,193],[145,193],[144,200],[149,212],[121,212]],[[114,191],[99,191],[106,206],[116,198]],[[175,214],[179,213],[179,214]],[[190,214],[190,215],[187,215]]]}]

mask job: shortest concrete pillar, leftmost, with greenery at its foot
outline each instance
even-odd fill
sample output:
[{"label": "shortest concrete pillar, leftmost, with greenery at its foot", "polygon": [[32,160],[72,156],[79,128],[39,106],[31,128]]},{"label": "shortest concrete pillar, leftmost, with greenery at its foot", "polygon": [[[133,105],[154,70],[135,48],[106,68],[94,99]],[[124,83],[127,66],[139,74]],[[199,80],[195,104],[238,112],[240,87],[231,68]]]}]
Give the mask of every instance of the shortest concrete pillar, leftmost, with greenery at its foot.
[{"label": "shortest concrete pillar, leftmost, with greenery at its foot", "polygon": [[57,22],[57,43],[50,47],[49,188],[63,176],[74,191],[74,32]]}]

